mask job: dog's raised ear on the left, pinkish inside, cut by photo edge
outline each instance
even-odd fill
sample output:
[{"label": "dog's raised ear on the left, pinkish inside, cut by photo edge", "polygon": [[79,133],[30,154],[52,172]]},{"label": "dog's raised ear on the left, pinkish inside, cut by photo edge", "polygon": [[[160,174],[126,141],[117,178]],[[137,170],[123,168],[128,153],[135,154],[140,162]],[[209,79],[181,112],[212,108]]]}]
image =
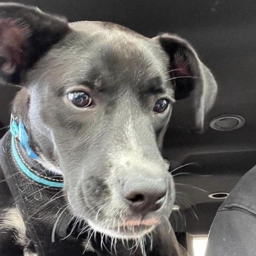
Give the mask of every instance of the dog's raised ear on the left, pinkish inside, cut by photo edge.
[{"label": "dog's raised ear on the left, pinkish inside, cut by photo edge", "polygon": [[0,82],[22,82],[26,71],[69,31],[65,19],[21,4],[0,4]]}]

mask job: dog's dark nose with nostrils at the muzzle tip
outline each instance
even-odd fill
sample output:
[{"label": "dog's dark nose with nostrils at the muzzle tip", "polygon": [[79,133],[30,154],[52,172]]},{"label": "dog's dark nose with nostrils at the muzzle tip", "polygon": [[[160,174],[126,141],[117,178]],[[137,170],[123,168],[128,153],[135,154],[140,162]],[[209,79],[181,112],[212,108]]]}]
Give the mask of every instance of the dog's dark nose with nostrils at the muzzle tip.
[{"label": "dog's dark nose with nostrils at the muzzle tip", "polygon": [[134,214],[144,216],[161,208],[167,194],[166,180],[129,178],[123,186],[123,195]]}]

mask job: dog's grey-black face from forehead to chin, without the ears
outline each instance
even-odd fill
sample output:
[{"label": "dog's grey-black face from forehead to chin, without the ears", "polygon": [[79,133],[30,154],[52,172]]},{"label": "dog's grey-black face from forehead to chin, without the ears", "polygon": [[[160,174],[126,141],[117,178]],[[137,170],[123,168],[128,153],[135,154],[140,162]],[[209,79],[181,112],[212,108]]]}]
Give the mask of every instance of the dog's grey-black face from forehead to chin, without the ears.
[{"label": "dog's grey-black face from forehead to chin, without the ears", "polygon": [[159,45],[102,29],[71,33],[28,75],[33,138],[44,148],[45,134],[54,149],[75,215],[105,233],[141,235],[161,217],[152,212],[169,216],[173,180],[159,151],[174,101],[167,71]]}]

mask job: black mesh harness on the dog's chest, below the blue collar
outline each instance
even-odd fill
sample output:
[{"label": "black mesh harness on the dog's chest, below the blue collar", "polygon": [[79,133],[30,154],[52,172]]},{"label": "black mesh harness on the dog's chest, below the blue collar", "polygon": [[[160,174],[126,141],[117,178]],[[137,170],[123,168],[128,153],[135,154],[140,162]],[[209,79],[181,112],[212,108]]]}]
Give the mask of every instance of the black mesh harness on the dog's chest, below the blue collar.
[{"label": "black mesh harness on the dog's chest, below the blue collar", "polygon": [[[75,229],[73,234],[65,238],[69,232],[72,216],[67,211],[63,211],[67,203],[63,196],[60,197],[63,195],[61,189],[39,185],[19,170],[13,159],[9,132],[5,134],[1,144],[0,163],[5,179],[38,256],[82,255],[84,252],[82,242],[87,237],[86,234],[77,238],[77,234],[76,236],[74,234],[77,231]],[[57,220],[55,242],[52,243],[52,230]],[[86,252],[86,255],[95,254]]]}]

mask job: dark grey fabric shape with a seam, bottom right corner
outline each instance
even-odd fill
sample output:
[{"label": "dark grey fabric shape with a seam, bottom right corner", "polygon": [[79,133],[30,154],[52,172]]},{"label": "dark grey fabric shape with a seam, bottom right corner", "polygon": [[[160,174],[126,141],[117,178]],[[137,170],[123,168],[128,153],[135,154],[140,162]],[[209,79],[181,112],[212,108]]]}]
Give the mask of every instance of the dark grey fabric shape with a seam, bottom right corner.
[{"label": "dark grey fabric shape with a seam, bottom right corner", "polygon": [[247,172],[220,206],[205,256],[256,255],[256,166]]}]

